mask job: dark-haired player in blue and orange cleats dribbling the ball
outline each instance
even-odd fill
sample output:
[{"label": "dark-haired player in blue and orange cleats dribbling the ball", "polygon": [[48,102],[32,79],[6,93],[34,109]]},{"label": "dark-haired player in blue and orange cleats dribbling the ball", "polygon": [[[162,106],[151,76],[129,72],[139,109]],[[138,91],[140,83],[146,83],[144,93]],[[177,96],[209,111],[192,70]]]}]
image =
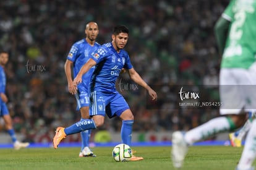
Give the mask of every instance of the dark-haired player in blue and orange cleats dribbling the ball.
[{"label": "dark-haired player in blue and orange cleats dribbling the ball", "polygon": [[[106,114],[109,118],[118,116],[122,119],[122,143],[131,144],[134,115],[124,97],[115,87],[117,77],[122,68],[128,70],[130,79],[148,90],[152,100],[157,99],[156,92],[135,71],[130,62],[129,54],[123,49],[129,38],[129,29],[124,25],[117,25],[114,27],[111,37],[112,41],[98,48],[74,79],[74,85],[79,86],[83,82],[82,76],[87,74],[91,67],[95,66],[90,82],[89,107],[92,119],[79,121],[67,128],[58,127],[53,139],[54,148],[57,148],[61,140],[67,135],[100,127],[104,123]],[[142,159],[142,157],[133,155],[130,161]]]}]

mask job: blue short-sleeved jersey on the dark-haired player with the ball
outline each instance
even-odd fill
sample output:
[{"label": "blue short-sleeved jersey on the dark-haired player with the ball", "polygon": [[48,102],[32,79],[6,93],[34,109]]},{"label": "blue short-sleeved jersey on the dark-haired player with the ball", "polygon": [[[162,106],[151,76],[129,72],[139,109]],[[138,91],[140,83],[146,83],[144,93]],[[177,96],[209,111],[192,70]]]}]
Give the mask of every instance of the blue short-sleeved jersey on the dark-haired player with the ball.
[{"label": "blue short-sleeved jersey on the dark-haired player with the ball", "polygon": [[90,82],[91,91],[116,91],[116,80],[121,69],[132,69],[128,53],[124,49],[117,53],[112,43],[100,46],[91,58],[97,63]]}]

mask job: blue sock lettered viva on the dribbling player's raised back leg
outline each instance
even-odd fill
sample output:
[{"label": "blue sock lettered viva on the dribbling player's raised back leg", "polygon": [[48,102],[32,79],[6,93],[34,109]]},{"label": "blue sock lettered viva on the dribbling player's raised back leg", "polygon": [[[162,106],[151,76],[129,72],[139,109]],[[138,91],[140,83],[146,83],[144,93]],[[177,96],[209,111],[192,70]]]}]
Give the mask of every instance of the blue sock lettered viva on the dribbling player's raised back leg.
[{"label": "blue sock lettered viva on the dribbling player's raised back leg", "polygon": [[93,119],[81,119],[79,122],[76,122],[75,124],[65,128],[64,132],[66,135],[71,135],[88,129],[96,129],[96,125]]}]

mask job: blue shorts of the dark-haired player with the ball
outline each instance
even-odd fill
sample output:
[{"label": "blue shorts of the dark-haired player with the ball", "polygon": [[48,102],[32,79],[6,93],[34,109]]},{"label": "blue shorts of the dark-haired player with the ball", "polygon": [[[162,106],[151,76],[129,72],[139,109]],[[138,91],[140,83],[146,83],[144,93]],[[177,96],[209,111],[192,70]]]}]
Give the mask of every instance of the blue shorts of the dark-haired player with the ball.
[{"label": "blue shorts of the dark-haired player with the ball", "polygon": [[90,93],[90,116],[108,115],[109,118],[120,115],[129,108],[124,97],[117,91],[114,93]]}]

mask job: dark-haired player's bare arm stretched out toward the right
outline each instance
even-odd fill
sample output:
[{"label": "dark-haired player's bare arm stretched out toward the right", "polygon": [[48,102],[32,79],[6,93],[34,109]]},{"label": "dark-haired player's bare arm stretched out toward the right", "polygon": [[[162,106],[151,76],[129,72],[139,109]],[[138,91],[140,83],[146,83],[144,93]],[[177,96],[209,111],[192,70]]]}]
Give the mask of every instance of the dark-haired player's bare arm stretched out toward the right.
[{"label": "dark-haired player's bare arm stretched out toward the right", "polygon": [[156,91],[154,91],[143,79],[140,75],[134,70],[134,68],[129,69],[130,79],[134,80],[135,83],[139,84],[143,88],[148,90],[148,94],[151,96],[152,100],[157,100]]}]

